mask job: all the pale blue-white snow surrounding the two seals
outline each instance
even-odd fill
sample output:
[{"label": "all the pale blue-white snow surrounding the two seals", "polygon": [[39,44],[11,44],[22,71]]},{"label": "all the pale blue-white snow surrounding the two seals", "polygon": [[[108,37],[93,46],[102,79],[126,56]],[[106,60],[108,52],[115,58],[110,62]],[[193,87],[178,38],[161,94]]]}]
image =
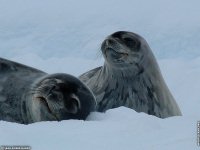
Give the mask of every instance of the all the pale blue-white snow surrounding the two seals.
[{"label": "all the pale blue-white snow surrounding the two seals", "polygon": [[0,121],[0,145],[34,150],[193,150],[200,120],[199,0],[0,0],[0,56],[75,76],[103,65],[109,34],[142,35],[183,113],[159,119],[120,107],[86,121],[21,125]]}]

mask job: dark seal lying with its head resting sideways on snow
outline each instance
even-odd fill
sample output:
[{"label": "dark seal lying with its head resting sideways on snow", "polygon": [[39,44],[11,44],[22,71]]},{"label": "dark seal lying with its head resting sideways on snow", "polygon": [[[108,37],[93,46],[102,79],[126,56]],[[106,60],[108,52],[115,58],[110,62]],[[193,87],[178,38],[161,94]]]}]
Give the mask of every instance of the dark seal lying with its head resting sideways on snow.
[{"label": "dark seal lying with its head resting sideways on snow", "polygon": [[40,70],[0,58],[0,120],[86,119],[96,109],[91,90],[76,77]]}]

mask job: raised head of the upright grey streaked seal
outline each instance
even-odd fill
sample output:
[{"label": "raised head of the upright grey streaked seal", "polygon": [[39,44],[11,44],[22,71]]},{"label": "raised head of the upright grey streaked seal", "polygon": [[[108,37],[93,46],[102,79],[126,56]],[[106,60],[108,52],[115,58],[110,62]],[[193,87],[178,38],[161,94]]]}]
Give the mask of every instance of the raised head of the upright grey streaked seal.
[{"label": "raised head of the upright grey streaked seal", "polygon": [[107,64],[124,68],[138,63],[143,55],[144,46],[139,35],[130,32],[116,32],[108,36],[102,43],[101,50]]}]

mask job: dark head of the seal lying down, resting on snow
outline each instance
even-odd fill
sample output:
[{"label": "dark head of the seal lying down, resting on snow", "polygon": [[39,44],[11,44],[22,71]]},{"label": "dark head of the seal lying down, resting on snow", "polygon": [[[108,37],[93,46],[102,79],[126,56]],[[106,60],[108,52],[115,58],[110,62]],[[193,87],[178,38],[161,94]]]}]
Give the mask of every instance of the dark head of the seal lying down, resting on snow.
[{"label": "dark head of the seal lying down, resting on snow", "polygon": [[91,111],[95,111],[96,101],[92,92],[71,75],[47,75],[30,91],[32,100],[28,104],[34,122],[86,119]]}]

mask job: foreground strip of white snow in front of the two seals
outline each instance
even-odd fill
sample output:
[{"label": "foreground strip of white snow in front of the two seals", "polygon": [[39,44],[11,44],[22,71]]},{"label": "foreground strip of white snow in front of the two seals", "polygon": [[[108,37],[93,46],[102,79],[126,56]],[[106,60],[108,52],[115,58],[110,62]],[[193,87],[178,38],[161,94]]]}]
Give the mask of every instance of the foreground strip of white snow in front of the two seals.
[{"label": "foreground strip of white snow in front of the two seals", "polygon": [[194,122],[184,117],[163,120],[120,107],[105,114],[92,113],[87,121],[0,122],[0,133],[3,144],[31,145],[38,150],[195,149]]}]

